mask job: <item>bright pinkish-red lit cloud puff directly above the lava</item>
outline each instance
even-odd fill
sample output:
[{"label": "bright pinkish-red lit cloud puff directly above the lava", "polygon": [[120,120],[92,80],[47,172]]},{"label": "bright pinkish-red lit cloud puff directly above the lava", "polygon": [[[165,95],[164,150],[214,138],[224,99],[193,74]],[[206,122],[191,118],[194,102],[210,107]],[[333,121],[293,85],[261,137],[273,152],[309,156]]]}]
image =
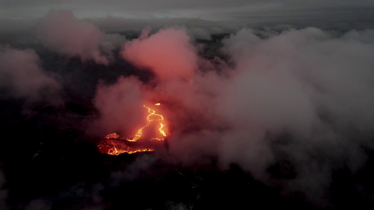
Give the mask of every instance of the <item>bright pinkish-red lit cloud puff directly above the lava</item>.
[{"label": "bright pinkish-red lit cloud puff directly above the lava", "polygon": [[126,43],[121,55],[138,67],[151,68],[165,79],[190,77],[197,70],[196,48],[183,29],[168,28]]}]

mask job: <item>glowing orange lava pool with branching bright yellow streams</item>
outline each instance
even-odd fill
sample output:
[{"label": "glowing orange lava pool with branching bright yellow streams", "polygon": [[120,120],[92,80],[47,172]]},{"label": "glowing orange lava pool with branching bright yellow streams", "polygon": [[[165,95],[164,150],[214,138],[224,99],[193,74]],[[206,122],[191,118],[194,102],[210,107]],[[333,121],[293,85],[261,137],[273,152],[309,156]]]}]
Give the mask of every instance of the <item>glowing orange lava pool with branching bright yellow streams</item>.
[{"label": "glowing orange lava pool with branching bright yellow streams", "polygon": [[[160,105],[160,103],[155,104],[157,106]],[[147,116],[147,124],[143,126],[141,129],[138,130],[138,132],[131,138],[128,139],[126,137],[119,138],[119,135],[117,133],[112,133],[107,136],[105,136],[101,142],[98,144],[99,151],[101,153],[107,153],[110,155],[119,155],[124,152],[127,152],[129,154],[134,153],[134,152],[141,152],[141,151],[153,151],[154,149],[151,148],[144,148],[140,144],[135,143],[143,133],[143,129],[145,127],[148,127],[152,121],[157,121],[160,125],[160,128],[158,129],[162,138],[151,138],[150,140],[164,140],[163,137],[167,136],[169,133],[167,133],[165,130],[163,130],[165,124],[164,124],[164,118],[160,114],[156,114],[156,111],[148,108],[147,106],[144,105],[145,108],[148,109],[149,115]],[[157,118],[150,119],[150,117],[154,115],[157,116]]]}]

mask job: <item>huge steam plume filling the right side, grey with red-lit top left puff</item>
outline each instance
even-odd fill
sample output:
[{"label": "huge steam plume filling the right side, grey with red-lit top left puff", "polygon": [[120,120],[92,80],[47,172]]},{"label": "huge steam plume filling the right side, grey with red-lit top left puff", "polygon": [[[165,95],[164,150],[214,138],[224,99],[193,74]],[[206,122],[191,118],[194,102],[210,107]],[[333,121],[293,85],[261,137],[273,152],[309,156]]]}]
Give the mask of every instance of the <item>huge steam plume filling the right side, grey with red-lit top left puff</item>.
[{"label": "huge steam plume filling the right side, grey with red-lit top left puff", "polygon": [[181,161],[217,156],[265,182],[288,161],[295,168],[281,169],[294,174],[279,178],[285,191],[322,204],[332,171],[355,172],[365,160],[360,148],[373,146],[371,33],[305,28],[261,39],[245,28],[223,40],[234,68],[200,58],[183,29],[143,34],[122,55],[158,76],[155,87],[141,85],[142,97],[169,103],[170,152]]}]

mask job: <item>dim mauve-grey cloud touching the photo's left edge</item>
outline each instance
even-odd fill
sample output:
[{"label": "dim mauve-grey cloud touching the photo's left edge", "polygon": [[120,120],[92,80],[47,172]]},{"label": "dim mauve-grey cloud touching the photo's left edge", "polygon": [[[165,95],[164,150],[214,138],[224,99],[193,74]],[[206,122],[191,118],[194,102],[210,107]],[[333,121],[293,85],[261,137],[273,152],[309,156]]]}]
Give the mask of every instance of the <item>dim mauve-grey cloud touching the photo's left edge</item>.
[{"label": "dim mauve-grey cloud touching the photo's left edge", "polygon": [[32,49],[0,48],[0,87],[16,98],[29,102],[45,101],[61,105],[61,85],[41,68],[41,61]]}]

